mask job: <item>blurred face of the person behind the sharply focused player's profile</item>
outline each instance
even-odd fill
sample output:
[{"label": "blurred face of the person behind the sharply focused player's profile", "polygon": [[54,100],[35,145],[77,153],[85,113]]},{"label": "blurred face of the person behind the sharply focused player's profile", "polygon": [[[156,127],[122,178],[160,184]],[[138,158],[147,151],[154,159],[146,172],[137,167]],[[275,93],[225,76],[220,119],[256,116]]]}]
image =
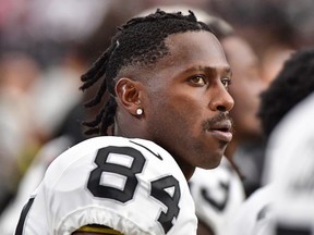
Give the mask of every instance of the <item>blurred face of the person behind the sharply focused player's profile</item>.
[{"label": "blurred face of the person behind the sharply focused player's profile", "polygon": [[235,138],[247,139],[261,134],[256,116],[259,94],[265,87],[257,71],[257,58],[249,44],[240,37],[222,39],[222,47],[232,67],[232,86],[229,92],[234,99],[230,114],[234,121]]}]

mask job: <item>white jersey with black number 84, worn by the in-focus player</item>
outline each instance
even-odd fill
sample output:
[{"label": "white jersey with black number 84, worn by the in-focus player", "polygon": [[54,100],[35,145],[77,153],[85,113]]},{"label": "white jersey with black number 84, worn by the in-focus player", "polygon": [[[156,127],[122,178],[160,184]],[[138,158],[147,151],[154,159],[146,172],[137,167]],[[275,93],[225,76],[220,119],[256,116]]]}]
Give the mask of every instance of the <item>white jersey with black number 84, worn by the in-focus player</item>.
[{"label": "white jersey with black number 84, worn by the in-focus player", "polygon": [[50,164],[15,234],[67,235],[87,224],[125,235],[194,235],[197,219],[185,177],[166,150],[106,136],[68,149]]}]

